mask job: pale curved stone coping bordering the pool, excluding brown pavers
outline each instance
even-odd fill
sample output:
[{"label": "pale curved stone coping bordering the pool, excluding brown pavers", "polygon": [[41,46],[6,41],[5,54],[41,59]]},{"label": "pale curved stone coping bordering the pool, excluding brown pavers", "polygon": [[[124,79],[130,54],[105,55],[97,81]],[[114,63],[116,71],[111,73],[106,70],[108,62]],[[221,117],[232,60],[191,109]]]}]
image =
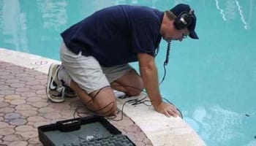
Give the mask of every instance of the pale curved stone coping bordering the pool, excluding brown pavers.
[{"label": "pale curved stone coping bordering the pool, excluding brown pavers", "polygon": [[[20,53],[15,50],[0,48],[0,61],[37,70],[47,74],[50,64],[60,64],[50,58],[29,53]],[[141,99],[145,95],[129,99],[117,99],[118,109],[122,109],[124,102],[131,99]],[[144,104],[124,105],[124,113],[141,128],[152,145],[206,145],[198,134],[181,118],[167,118],[154,111],[153,107]]]}]

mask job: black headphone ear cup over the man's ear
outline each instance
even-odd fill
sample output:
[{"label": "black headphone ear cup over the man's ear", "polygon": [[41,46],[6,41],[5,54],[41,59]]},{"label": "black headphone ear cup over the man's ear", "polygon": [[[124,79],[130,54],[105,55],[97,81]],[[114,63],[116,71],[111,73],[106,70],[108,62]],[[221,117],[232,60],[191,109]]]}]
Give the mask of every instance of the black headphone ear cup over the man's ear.
[{"label": "black headphone ear cup over the man's ear", "polygon": [[194,14],[193,9],[190,9],[189,12],[187,11],[181,12],[178,15],[178,17],[176,17],[176,19],[174,20],[175,28],[178,30],[181,30],[189,26],[190,23],[192,23],[192,19],[195,18],[193,14]]}]

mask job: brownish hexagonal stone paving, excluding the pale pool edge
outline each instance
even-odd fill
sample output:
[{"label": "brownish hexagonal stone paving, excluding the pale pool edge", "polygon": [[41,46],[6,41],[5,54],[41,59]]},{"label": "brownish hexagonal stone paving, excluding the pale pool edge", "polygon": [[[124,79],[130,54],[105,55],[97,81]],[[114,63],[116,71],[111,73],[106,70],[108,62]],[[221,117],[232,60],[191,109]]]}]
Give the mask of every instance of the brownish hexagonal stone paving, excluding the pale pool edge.
[{"label": "brownish hexagonal stone paving, excluding the pale pool edge", "polygon": [[[86,112],[78,98],[68,98],[58,104],[48,101],[46,82],[47,74],[0,61],[0,146],[42,145],[38,126],[74,118],[74,115],[77,118],[76,110]],[[121,112],[115,119],[121,119]],[[120,121],[109,121],[136,145],[152,145],[127,116]]]}]

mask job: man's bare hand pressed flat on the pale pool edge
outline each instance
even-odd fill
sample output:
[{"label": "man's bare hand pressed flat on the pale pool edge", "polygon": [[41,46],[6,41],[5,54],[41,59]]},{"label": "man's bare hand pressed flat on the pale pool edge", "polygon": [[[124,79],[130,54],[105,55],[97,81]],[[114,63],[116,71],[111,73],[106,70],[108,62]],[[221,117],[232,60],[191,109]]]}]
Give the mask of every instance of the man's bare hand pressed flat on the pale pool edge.
[{"label": "man's bare hand pressed flat on the pale pool edge", "polygon": [[167,117],[170,117],[170,116],[177,117],[178,115],[178,111],[176,110],[176,107],[172,104],[168,104],[165,102],[162,102],[157,107],[155,107],[155,110],[157,110],[157,112],[164,114]]}]

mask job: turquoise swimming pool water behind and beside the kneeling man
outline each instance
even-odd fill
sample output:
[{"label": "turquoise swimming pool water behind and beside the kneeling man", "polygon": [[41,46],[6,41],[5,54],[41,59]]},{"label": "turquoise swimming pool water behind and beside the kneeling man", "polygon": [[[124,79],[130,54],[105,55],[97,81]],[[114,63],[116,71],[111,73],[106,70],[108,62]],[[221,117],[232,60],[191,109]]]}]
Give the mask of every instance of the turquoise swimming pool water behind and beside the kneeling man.
[{"label": "turquoise swimming pool water behind and beside the kneeling man", "polygon": [[[97,9],[180,2],[195,9],[200,39],[172,43],[162,95],[207,145],[256,145],[255,0],[0,0],[0,47],[59,60],[59,33]],[[160,79],[166,45],[156,58]]]}]

